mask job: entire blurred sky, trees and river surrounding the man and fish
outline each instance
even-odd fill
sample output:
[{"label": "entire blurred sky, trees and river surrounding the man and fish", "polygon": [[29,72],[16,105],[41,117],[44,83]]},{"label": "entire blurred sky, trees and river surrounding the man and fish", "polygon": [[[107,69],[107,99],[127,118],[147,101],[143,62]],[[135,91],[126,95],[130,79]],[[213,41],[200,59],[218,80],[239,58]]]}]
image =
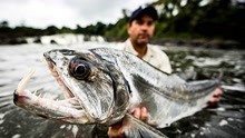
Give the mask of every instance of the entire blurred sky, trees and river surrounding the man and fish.
[{"label": "entire blurred sky, trees and river surrounding the man and fish", "polygon": [[245,137],[245,0],[0,0],[0,138],[107,137],[106,129],[46,120],[16,107],[13,91],[31,68],[28,89],[61,90],[42,62],[57,48],[117,47],[139,6],[159,14],[151,43],[189,80],[222,76],[220,102],[161,131],[168,137]]}]

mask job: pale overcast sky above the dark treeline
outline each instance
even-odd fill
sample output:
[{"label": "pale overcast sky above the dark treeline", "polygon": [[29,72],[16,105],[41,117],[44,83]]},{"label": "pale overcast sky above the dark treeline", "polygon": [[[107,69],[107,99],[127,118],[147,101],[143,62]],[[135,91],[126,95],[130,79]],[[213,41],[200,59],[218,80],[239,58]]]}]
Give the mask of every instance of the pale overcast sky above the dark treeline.
[{"label": "pale overcast sky above the dark treeline", "polygon": [[45,29],[86,27],[98,21],[115,23],[122,17],[122,9],[129,12],[139,6],[156,0],[0,0],[0,22],[10,27],[27,26]]}]

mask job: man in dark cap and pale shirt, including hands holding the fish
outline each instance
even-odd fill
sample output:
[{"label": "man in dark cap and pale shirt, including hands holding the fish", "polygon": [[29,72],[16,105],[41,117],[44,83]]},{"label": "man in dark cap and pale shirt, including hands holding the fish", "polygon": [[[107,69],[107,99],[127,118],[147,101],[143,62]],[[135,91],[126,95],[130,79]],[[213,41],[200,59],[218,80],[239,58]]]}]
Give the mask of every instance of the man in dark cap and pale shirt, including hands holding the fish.
[{"label": "man in dark cap and pale shirt, including hands holding the fish", "polygon": [[[171,67],[167,55],[158,47],[148,45],[155,31],[155,21],[158,19],[157,11],[154,7],[139,7],[131,13],[129,23],[127,26],[129,39],[120,49],[134,53],[143,60],[149,62],[154,67],[171,73]],[[217,102],[222,95],[220,89],[214,91],[214,98],[209,100],[210,103]],[[140,120],[147,119],[147,109],[145,107],[137,107],[131,110],[131,115]],[[110,137],[122,137],[124,125],[121,122],[109,128],[108,135]]]}]

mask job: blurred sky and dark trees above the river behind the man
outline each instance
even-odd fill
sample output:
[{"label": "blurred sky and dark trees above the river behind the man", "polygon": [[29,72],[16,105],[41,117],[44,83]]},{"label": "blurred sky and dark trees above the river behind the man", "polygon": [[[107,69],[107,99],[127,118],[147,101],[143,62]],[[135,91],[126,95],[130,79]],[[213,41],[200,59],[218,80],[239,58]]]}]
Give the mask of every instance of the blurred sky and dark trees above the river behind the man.
[{"label": "blurred sky and dark trees above the river behind the man", "polygon": [[[153,43],[239,48],[245,43],[245,0],[1,0],[0,45],[43,42],[42,36],[127,39],[126,23],[139,6],[151,4],[159,21]],[[35,39],[27,40],[27,37]],[[80,40],[79,39],[79,40]],[[101,40],[101,38],[99,39]],[[60,45],[59,40],[49,40]],[[76,40],[74,40],[76,41]]]}]

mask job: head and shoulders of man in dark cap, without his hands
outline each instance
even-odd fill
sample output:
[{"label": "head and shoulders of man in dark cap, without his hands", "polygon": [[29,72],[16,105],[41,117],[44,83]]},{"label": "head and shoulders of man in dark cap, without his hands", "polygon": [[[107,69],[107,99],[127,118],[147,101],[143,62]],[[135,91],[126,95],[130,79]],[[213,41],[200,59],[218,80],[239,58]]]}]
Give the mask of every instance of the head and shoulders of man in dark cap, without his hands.
[{"label": "head and shoulders of man in dark cap, without his hands", "polygon": [[153,7],[138,8],[133,12],[127,26],[129,39],[122,50],[131,52],[154,67],[170,73],[171,67],[165,52],[158,47],[148,45],[155,31],[157,11]]}]

